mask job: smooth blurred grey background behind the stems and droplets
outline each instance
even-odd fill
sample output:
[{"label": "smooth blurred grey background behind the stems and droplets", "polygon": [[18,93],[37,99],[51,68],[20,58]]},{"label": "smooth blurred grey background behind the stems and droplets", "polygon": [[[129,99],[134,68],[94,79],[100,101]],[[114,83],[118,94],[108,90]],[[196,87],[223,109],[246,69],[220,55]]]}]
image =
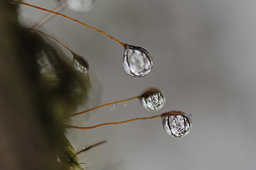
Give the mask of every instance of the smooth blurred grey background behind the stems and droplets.
[{"label": "smooth blurred grey background behind the stems and droplets", "polygon": [[[56,6],[53,0],[24,2],[47,9]],[[184,138],[168,136],[161,118],[69,130],[76,149],[108,140],[80,155],[81,162],[88,163],[84,167],[255,169],[255,1],[96,0],[87,13],[68,8],[61,13],[124,43],[144,46],[154,55],[152,71],[132,78],[122,67],[123,46],[112,39],[59,16],[42,25],[41,31],[90,63],[89,101],[77,111],[138,96],[148,87],[162,87],[166,93],[164,107],[156,112],[145,110],[135,99],[79,115],[72,124],[90,126],[170,110],[193,114],[193,127]],[[28,26],[45,14],[20,8]]]}]

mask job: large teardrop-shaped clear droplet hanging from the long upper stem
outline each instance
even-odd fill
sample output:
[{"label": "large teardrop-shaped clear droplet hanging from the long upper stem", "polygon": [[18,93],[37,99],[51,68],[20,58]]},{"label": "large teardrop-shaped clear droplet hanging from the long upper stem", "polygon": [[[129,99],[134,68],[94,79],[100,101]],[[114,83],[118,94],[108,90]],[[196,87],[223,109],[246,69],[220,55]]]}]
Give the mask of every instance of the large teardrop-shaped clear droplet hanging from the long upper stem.
[{"label": "large teardrop-shaped clear droplet hanging from the long upper stem", "polygon": [[125,71],[133,77],[146,76],[153,67],[150,52],[142,46],[124,46],[123,66]]}]

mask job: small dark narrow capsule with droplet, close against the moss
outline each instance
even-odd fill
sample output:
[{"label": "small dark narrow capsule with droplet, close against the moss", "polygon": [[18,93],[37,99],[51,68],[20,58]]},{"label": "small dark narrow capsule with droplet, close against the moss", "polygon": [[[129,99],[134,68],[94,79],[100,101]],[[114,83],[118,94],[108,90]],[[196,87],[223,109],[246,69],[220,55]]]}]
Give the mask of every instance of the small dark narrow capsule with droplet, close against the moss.
[{"label": "small dark narrow capsule with droplet, close against the moss", "polygon": [[82,55],[78,55],[77,53],[72,53],[73,54],[73,64],[76,67],[77,71],[80,73],[85,73],[87,74],[88,78],[88,71],[89,71],[89,63],[88,60],[86,60],[85,57]]}]

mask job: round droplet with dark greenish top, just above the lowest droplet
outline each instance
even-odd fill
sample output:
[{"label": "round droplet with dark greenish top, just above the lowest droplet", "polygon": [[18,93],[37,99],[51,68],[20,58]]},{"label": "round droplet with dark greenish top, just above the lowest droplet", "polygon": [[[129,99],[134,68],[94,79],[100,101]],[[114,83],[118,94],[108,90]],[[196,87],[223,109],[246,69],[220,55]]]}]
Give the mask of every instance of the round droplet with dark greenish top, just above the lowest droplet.
[{"label": "round droplet with dark greenish top, just above the lowest droplet", "polygon": [[164,90],[158,87],[152,87],[144,90],[140,97],[141,105],[149,111],[157,111],[163,108],[165,103],[165,93]]}]

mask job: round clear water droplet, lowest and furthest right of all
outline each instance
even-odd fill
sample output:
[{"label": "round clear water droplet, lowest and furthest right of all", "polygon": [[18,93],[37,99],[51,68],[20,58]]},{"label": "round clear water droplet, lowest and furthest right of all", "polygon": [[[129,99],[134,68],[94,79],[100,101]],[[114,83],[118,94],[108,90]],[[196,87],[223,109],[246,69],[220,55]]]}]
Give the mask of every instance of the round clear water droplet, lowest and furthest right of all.
[{"label": "round clear water droplet, lowest and furthest right of all", "polygon": [[170,111],[162,117],[164,131],[170,136],[181,138],[186,136],[192,127],[191,115],[184,111]]}]

